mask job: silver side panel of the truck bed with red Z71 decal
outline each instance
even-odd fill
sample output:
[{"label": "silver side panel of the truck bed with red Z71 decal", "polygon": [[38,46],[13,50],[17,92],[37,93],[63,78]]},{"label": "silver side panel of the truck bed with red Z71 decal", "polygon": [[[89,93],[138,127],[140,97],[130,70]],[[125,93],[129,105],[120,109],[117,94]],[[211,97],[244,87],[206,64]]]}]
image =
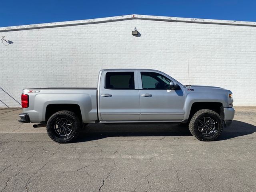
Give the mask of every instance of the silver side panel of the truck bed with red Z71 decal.
[{"label": "silver side panel of the truck bed with red Z71 decal", "polygon": [[23,94],[29,96],[28,108],[23,111],[33,123],[46,121],[48,107],[58,104],[79,106],[84,123],[98,120],[97,88],[26,88]]}]

